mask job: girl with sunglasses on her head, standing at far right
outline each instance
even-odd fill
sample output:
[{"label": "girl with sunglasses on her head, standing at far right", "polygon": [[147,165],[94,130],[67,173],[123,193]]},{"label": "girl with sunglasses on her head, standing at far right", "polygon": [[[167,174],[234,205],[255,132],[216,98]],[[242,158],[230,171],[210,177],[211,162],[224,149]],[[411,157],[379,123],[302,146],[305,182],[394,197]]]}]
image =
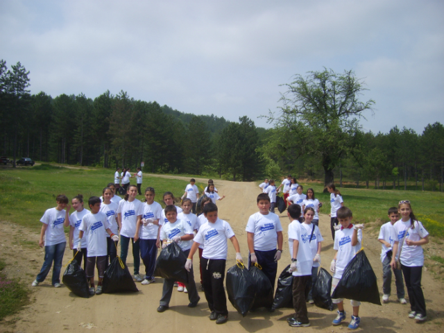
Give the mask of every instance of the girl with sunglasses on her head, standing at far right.
[{"label": "girl with sunglasses on her head, standing at far right", "polygon": [[[424,266],[422,246],[429,243],[429,232],[416,219],[409,200],[400,201],[398,211],[401,219],[393,225],[397,235],[393,244],[393,253],[398,253],[401,262],[402,274],[410,300],[409,318],[414,318],[417,323],[420,323],[427,318],[421,277],[422,266]],[[392,268],[396,267],[394,256],[392,256],[390,265]]]}]

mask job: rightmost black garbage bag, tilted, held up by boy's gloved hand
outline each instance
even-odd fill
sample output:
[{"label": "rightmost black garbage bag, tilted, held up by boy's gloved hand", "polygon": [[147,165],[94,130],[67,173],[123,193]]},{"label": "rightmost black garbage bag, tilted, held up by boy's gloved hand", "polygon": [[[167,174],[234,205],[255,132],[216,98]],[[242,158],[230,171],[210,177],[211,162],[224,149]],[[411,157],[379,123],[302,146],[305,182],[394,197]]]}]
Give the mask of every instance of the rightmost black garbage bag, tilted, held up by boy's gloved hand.
[{"label": "rightmost black garbage bag, tilted, held up by boy's gloved hand", "polygon": [[381,305],[376,275],[364,250],[359,251],[345,266],[332,298],[347,298]]}]

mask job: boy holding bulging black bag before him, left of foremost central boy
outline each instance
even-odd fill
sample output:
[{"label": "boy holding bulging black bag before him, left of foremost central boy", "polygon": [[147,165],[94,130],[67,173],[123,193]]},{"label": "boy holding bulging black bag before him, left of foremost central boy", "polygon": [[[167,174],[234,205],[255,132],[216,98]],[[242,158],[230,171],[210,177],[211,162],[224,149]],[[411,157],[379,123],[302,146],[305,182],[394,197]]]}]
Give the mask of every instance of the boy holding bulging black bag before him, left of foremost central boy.
[{"label": "boy holding bulging black bag before him, left of foremost central boy", "polygon": [[[165,207],[165,214],[169,223],[165,223],[160,232],[162,239],[162,249],[166,248],[171,242],[176,242],[182,249],[186,256],[189,254],[191,242],[194,238],[191,226],[184,220],[177,218],[178,213],[176,206],[169,205]],[[173,292],[174,280],[164,279],[164,287],[162,290],[162,298],[160,305],[157,307],[157,312],[163,312],[169,308],[169,301],[171,300],[171,293]],[[194,273],[190,269],[188,271],[188,283],[185,284],[188,291],[189,305],[188,307],[196,307],[200,300],[196,289],[196,282],[194,282]]]}]

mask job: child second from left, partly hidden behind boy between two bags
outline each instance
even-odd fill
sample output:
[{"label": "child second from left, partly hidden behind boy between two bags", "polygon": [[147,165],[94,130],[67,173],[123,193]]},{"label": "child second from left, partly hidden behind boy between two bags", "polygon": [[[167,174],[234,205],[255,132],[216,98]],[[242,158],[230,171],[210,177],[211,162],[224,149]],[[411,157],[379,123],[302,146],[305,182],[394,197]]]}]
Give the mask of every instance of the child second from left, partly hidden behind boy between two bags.
[{"label": "child second from left, partly hidden behind boy between two bags", "polygon": [[74,196],[71,200],[72,207],[74,208],[74,213],[69,216],[69,248],[73,250],[74,259],[78,262],[78,266],[82,265],[82,257],[83,257],[83,270],[86,270],[86,257],[87,257],[87,248],[86,248],[86,239],[87,237],[83,237],[81,250],[78,251],[74,248],[74,244],[77,246],[78,244],[78,233],[80,232],[80,223],[82,223],[83,216],[89,214],[89,210],[85,210],[83,207],[83,195],[78,194]]}]

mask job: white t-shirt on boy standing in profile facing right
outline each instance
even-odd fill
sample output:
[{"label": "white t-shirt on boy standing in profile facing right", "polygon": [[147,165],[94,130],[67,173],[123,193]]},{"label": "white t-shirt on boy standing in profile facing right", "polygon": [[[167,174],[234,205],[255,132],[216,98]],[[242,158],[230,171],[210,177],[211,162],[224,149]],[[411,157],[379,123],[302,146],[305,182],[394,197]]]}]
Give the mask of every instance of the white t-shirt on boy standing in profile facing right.
[{"label": "white t-shirt on boy standing in profile facing right", "polygon": [[[311,232],[310,232],[311,233]],[[293,220],[289,224],[289,248],[290,257],[293,257],[293,240],[299,241],[298,256],[296,266],[298,271],[292,273],[293,276],[311,275],[313,267],[313,257],[311,256],[311,246],[309,242],[310,234],[302,227],[298,220]]]}]

